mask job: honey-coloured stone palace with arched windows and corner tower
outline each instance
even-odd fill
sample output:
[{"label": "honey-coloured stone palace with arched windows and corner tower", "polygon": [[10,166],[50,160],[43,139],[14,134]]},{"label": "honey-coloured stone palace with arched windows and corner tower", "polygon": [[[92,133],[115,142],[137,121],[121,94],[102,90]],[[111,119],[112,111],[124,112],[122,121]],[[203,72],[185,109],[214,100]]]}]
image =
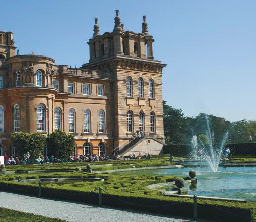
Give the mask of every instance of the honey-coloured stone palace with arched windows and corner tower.
[{"label": "honey-coloured stone palace with arched windows and corner tower", "polygon": [[142,32],[134,33],[118,13],[113,31],[102,35],[95,19],[89,62],[78,69],[22,55],[13,33],[0,31],[0,155],[15,154],[12,132],[55,129],[74,135],[77,154],[161,152],[166,65],[154,60],[146,16]]}]

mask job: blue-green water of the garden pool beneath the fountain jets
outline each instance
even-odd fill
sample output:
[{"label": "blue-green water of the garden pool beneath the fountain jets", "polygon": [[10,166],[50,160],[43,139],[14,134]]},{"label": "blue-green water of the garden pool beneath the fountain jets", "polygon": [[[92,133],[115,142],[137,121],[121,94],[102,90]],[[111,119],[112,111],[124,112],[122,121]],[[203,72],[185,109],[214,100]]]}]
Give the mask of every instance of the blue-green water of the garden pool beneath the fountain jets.
[{"label": "blue-green water of the garden pool beneath the fountain jets", "polygon": [[[186,184],[189,195],[247,199],[256,201],[256,167],[219,167],[216,173],[210,168],[155,169],[118,172],[123,175],[175,175],[188,176],[190,170],[197,173],[196,185]],[[172,190],[173,187],[163,187]]]}]

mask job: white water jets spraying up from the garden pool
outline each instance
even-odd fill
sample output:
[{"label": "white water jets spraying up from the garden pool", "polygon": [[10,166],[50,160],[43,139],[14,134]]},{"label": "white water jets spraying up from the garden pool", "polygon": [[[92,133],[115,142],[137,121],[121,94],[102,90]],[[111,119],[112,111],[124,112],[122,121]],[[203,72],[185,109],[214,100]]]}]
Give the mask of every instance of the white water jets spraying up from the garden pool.
[{"label": "white water jets spraying up from the garden pool", "polygon": [[[215,145],[214,143],[214,133],[211,133],[210,131],[209,118],[207,115],[205,115],[205,119],[206,119],[206,126],[207,126],[207,130],[205,133],[206,133],[206,136],[209,138],[209,144],[204,144],[200,139],[198,143],[198,138],[196,135],[194,135],[191,140],[191,146],[193,149],[194,158],[200,159],[200,160],[206,160],[210,165],[210,168],[212,169],[212,171],[217,172],[218,165],[221,159],[223,146],[227,141],[228,132],[225,133],[221,141],[221,144],[218,147],[218,145]],[[199,151],[199,155],[198,155],[198,151]]]}]

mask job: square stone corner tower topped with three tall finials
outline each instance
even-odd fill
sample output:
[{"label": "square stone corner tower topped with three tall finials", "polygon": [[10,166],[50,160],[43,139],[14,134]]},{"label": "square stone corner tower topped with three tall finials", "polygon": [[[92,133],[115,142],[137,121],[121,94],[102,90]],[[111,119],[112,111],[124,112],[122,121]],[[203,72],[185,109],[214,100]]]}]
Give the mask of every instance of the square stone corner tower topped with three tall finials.
[{"label": "square stone corner tower topped with three tall finials", "polygon": [[89,62],[82,69],[110,73],[113,93],[114,148],[129,143],[136,131],[163,137],[162,69],[154,60],[153,36],[143,16],[142,32],[125,31],[116,10],[113,32],[99,34],[95,19]]}]

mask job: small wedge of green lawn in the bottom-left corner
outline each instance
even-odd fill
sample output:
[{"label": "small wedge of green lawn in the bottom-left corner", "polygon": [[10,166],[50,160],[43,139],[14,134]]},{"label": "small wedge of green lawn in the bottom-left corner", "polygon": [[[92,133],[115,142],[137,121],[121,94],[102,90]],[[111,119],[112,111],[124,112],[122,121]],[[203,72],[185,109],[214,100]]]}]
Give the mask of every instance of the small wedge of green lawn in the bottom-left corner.
[{"label": "small wedge of green lawn in the bottom-left corner", "polygon": [[61,221],[66,221],[62,219],[55,219],[55,218],[50,218],[50,217],[45,217],[45,216],[40,216],[40,215],[35,215],[32,213],[24,213],[16,210],[10,210],[6,208],[0,207],[0,221],[5,221],[5,222],[61,222]]}]

